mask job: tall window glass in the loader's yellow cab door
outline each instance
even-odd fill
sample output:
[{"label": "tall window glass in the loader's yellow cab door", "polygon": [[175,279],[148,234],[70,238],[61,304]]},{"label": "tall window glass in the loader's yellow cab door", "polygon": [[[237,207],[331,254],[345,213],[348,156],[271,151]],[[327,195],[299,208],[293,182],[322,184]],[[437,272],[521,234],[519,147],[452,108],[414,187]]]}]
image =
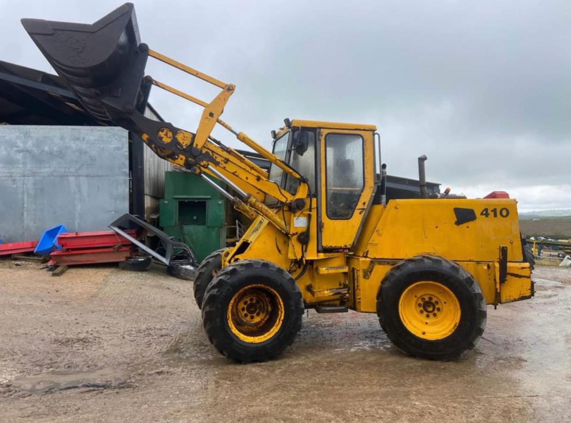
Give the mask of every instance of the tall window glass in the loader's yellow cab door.
[{"label": "tall window glass in the loader's yellow cab door", "polygon": [[357,134],[325,137],[327,216],[349,219],[364,187],[363,138]]}]

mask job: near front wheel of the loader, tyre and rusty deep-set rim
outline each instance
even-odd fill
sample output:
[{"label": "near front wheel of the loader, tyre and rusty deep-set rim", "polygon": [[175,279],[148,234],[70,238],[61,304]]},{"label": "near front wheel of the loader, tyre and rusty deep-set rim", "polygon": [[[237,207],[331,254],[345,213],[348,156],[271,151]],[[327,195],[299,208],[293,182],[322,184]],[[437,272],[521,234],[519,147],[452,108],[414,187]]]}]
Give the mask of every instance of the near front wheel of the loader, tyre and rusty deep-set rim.
[{"label": "near front wheel of the loader, tyre and rusty deep-set rim", "polygon": [[241,363],[278,357],[301,329],[301,292],[286,270],[262,260],[220,270],[206,289],[202,321],[211,344]]}]

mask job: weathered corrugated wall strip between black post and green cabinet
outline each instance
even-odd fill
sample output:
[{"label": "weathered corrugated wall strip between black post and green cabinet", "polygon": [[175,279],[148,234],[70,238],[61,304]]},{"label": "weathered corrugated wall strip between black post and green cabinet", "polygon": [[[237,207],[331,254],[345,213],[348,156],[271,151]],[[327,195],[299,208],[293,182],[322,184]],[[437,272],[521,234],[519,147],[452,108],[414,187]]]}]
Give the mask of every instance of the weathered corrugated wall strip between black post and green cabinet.
[{"label": "weathered corrugated wall strip between black post and green cabinet", "polygon": [[[144,115],[155,121],[160,119],[147,107]],[[144,146],[144,205],[145,216],[148,217],[152,213],[158,213],[160,199],[164,197],[164,173],[172,170],[172,163],[168,162],[147,146]]]}]

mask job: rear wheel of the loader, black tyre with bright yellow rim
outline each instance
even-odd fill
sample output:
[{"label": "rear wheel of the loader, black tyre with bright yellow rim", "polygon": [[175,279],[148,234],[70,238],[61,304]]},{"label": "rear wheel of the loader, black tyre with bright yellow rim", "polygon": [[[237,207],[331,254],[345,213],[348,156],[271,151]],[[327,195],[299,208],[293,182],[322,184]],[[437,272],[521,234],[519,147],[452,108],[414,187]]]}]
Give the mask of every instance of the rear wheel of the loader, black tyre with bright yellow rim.
[{"label": "rear wheel of the loader, black tyre with bright yellow rim", "polygon": [[389,340],[405,353],[451,360],[480,340],[486,301],[478,282],[459,265],[419,256],[400,262],[384,277],[377,316]]}]

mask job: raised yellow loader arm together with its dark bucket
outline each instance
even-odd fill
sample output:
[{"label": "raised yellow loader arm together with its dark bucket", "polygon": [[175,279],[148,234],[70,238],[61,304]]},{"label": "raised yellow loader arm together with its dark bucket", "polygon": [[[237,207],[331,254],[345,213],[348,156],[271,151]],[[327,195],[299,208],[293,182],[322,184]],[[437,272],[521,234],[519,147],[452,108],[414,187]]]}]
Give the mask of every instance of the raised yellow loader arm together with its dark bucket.
[{"label": "raised yellow loader arm together with its dark bucket", "polygon": [[[226,182],[238,193],[234,196],[224,190],[224,195],[231,199],[237,210],[252,219],[263,216],[280,232],[289,235],[286,222],[264,205],[263,197],[271,195],[282,203],[307,198],[308,184],[305,178],[248,135],[235,131],[220,119],[224,106],[234,93],[234,85],[150,50],[140,42],[132,3],[118,7],[93,25],[43,19],[22,19],[22,24],[55,71],[96,119],[110,121],[139,135],[159,157],[186,167],[207,182],[210,181],[212,186],[215,184],[211,178]],[[211,102],[206,102],[144,76],[148,57],[222,90]],[[153,85],[204,107],[195,133],[170,122],[154,121],[144,116]],[[271,181],[265,170],[212,137],[216,123],[296,178],[300,182],[296,193],[283,190],[278,183]]]}]

